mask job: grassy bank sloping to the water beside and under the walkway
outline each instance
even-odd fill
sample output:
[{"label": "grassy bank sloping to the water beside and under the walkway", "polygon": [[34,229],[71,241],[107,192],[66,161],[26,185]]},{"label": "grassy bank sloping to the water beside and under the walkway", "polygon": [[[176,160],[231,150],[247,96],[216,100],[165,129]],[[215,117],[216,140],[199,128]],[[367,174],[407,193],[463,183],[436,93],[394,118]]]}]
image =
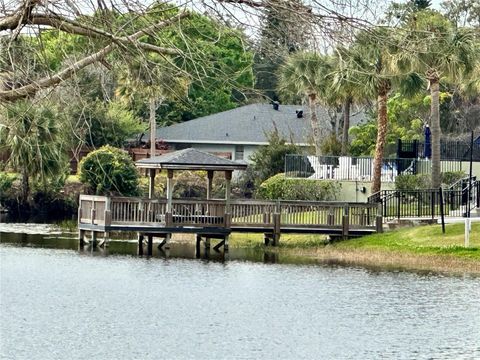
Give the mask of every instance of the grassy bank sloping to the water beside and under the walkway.
[{"label": "grassy bank sloping to the water beside and under the walkway", "polygon": [[[464,247],[463,223],[403,228],[383,234],[329,243],[320,235],[283,234],[278,248],[266,251],[319,261],[380,268],[480,274],[480,223],[472,223],[470,247]],[[232,247],[263,247],[261,234],[233,234]]]}]

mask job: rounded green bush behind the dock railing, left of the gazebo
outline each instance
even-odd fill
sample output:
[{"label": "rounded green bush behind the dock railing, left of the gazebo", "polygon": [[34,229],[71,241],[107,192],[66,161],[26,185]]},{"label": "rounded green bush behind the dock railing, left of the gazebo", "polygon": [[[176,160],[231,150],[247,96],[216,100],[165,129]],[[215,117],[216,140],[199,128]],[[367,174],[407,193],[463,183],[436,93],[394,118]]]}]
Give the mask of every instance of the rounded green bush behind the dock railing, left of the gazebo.
[{"label": "rounded green bush behind the dock railing, left of the gazebo", "polygon": [[79,179],[97,195],[139,194],[138,172],[126,151],[103,146],[80,161]]}]

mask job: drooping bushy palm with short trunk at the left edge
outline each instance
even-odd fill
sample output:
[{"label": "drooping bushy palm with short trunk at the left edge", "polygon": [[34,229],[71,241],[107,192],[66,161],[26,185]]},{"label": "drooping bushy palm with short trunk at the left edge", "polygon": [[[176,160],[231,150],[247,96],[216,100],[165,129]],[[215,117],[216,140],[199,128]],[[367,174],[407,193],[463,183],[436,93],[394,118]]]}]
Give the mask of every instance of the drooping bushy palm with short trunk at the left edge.
[{"label": "drooping bushy palm with short trunk at the left edge", "polygon": [[7,166],[22,176],[20,202],[27,204],[31,178],[44,185],[66,167],[61,131],[50,106],[21,100],[0,114],[0,152],[9,154]]}]

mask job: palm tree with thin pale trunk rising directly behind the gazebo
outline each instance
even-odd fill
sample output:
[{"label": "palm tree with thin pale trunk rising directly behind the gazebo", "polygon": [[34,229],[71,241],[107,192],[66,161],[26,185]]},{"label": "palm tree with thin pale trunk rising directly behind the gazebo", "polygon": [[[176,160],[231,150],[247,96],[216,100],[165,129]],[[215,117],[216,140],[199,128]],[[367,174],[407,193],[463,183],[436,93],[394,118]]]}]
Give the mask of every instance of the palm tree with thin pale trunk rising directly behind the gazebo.
[{"label": "palm tree with thin pale trunk rising directly behind the gazebo", "polygon": [[167,99],[186,96],[189,80],[184,73],[172,71],[172,64],[166,60],[134,62],[120,76],[117,95],[132,99],[140,96],[148,99],[150,124],[150,156],[155,156],[156,111]]}]

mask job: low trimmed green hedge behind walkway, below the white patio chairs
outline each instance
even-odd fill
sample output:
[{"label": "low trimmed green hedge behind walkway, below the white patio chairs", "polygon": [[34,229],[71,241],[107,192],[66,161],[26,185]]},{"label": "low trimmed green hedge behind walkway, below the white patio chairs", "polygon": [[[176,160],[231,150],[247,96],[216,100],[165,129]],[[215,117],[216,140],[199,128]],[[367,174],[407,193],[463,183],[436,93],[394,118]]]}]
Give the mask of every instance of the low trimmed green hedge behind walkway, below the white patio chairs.
[{"label": "low trimmed green hedge behind walkway, below the white patio chairs", "polygon": [[286,179],[284,174],[272,176],[258,189],[259,197],[269,200],[331,201],[339,192],[340,185],[333,181]]}]

